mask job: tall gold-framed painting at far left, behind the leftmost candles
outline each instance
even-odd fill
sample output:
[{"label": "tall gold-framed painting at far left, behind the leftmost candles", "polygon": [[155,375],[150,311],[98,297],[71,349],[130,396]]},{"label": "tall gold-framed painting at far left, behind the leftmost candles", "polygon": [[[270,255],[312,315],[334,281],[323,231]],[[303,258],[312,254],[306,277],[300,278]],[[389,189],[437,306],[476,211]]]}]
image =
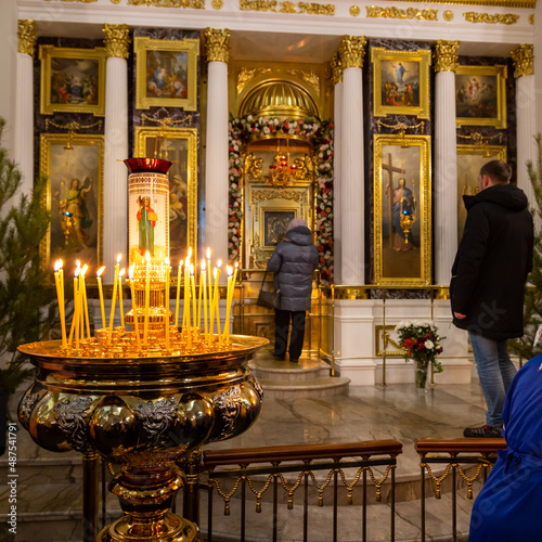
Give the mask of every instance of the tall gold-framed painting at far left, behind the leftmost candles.
[{"label": "tall gold-framed painting at far left, behind the leftmost candles", "polygon": [[76,260],[95,276],[102,264],[103,136],[42,133],[40,173],[48,178],[47,208],[51,224],[40,245],[44,269],[62,259],[70,269]]}]

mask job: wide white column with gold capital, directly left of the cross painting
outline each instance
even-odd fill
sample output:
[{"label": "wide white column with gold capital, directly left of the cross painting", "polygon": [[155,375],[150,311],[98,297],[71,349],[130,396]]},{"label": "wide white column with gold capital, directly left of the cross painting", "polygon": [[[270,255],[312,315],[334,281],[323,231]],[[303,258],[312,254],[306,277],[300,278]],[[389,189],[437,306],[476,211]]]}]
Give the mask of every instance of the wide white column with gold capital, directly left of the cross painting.
[{"label": "wide white column with gold capital, directly left of the cross painting", "polygon": [[365,38],[347,36],[340,43],[343,101],[340,117],[340,191],[335,217],[340,220],[339,275],[345,285],[365,283],[363,177],[363,65]]}]

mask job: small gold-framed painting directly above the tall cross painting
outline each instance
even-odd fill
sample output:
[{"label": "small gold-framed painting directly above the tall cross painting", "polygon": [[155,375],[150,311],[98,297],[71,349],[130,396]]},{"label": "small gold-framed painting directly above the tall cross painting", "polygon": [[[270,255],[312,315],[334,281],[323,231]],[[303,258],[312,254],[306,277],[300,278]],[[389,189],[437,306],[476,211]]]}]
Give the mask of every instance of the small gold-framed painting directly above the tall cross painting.
[{"label": "small gold-framed painting directly above the tall cross painting", "polygon": [[431,52],[371,49],[374,116],[415,115],[429,118]]}]

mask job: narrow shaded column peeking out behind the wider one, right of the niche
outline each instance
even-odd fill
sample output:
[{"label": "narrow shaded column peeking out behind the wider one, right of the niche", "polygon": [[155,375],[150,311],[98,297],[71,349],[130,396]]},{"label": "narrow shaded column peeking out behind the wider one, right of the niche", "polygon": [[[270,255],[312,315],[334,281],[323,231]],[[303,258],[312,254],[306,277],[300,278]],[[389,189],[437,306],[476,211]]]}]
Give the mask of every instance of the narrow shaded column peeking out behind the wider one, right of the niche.
[{"label": "narrow shaded column peeking out behind the wider one, right of the niche", "polygon": [[335,126],[334,129],[334,141],[333,141],[333,230],[334,230],[334,245],[333,245],[333,255],[334,255],[334,282],[335,284],[341,284],[341,266],[337,264],[337,262],[341,261],[343,255],[343,232],[340,229],[340,216],[338,212],[338,206],[340,202],[340,183],[341,183],[341,175],[340,175],[340,160],[343,155],[341,149],[341,138],[340,138],[340,127],[341,127],[341,115],[343,115],[343,68],[340,67],[340,59],[338,54],[334,55],[332,61],[332,70],[333,70],[333,80],[335,83],[335,92],[334,92],[334,112],[333,112],[333,124]]}]

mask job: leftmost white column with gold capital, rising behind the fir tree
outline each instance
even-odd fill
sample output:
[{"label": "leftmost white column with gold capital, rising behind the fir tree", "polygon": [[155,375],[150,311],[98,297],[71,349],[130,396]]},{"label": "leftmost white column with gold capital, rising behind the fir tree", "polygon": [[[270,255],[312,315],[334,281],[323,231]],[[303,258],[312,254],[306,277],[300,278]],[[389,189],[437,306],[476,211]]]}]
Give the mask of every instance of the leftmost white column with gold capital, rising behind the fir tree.
[{"label": "leftmost white column with gold capital, rising behind the fir tree", "polygon": [[30,194],[34,186],[34,52],[37,33],[28,20],[18,22],[17,94],[15,98],[14,152],[22,179],[20,192]]}]

